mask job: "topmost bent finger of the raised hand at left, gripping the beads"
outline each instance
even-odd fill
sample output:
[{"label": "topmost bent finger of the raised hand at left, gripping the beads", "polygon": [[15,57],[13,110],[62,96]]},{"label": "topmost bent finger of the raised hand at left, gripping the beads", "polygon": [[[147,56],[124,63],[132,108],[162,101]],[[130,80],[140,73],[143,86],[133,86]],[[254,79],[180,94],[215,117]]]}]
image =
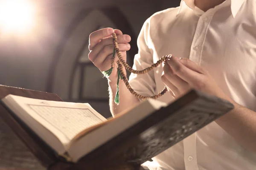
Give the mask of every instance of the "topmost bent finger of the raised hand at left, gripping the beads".
[{"label": "topmost bent finger of the raised hand at left, gripping the beads", "polygon": [[103,28],[97,31],[94,31],[89,36],[89,50],[93,48],[105,37],[110,37],[114,33],[113,28]]}]

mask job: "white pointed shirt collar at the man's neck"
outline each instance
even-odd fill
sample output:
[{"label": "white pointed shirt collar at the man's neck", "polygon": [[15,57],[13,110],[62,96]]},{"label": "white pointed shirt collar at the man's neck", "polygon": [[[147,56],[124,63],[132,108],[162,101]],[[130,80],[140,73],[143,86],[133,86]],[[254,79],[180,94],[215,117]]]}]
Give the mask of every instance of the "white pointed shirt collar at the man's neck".
[{"label": "white pointed shirt collar at the man's neck", "polygon": [[[238,13],[243,3],[244,3],[244,0],[231,0],[231,12],[232,12],[233,18],[236,17],[236,14]],[[195,0],[181,0],[178,14],[181,11],[183,11],[186,7],[189,7],[194,10],[196,8]]]}]

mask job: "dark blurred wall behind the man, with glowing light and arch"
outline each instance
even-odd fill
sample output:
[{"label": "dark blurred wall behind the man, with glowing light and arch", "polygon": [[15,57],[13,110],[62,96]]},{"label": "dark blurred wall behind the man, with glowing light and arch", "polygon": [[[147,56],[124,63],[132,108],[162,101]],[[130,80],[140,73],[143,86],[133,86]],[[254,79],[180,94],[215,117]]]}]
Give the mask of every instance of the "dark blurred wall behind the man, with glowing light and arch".
[{"label": "dark blurred wall behind the man, with glowing light and arch", "polygon": [[[23,3],[21,3],[23,2]],[[108,85],[88,59],[88,37],[100,28],[132,38],[137,53],[144,21],[180,0],[0,0],[0,84],[47,91],[64,101],[88,102],[106,118]]]}]

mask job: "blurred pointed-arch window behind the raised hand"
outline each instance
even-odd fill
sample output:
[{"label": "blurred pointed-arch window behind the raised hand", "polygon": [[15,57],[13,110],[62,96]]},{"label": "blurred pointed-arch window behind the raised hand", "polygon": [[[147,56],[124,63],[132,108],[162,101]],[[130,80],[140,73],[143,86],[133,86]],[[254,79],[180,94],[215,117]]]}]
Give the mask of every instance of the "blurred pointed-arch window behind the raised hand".
[{"label": "blurred pointed-arch window behind the raised hand", "polygon": [[109,117],[107,79],[88,59],[90,33],[105,27],[120,29],[131,36],[132,48],[127,53],[127,62],[133,64],[137,39],[122,12],[118,8],[83,10],[70,24],[56,50],[47,91],[58,94],[64,101],[88,102],[103,116]]}]

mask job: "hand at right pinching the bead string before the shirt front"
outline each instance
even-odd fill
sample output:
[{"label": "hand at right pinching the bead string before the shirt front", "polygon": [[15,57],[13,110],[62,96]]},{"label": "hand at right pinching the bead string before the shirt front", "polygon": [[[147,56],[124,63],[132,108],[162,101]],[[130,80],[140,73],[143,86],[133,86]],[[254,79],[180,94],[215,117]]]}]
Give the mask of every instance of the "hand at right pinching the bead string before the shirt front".
[{"label": "hand at right pinching the bead string before the shirt front", "polygon": [[186,58],[168,57],[163,62],[162,81],[174,98],[194,88],[222,99],[231,100],[205,68]]}]

